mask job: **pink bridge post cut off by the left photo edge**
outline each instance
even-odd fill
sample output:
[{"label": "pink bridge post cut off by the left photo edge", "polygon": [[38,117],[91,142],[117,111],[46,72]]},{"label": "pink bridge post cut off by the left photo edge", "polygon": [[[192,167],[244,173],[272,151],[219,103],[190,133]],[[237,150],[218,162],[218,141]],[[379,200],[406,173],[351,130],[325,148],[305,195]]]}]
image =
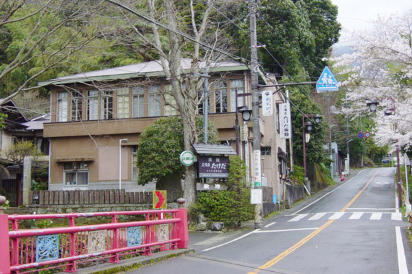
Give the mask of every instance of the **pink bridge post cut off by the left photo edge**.
[{"label": "pink bridge post cut off by the left photo edge", "polygon": [[4,210],[1,208],[4,203],[5,197],[0,196],[0,250],[2,251],[2,255],[0,256],[0,274],[10,274],[8,216],[4,214]]}]

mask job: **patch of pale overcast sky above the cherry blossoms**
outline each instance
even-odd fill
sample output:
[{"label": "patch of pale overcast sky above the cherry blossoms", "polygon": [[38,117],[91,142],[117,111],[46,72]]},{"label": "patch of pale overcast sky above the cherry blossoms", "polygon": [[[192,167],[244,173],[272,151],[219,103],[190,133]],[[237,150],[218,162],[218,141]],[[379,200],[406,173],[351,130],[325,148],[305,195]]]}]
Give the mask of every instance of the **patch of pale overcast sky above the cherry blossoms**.
[{"label": "patch of pale overcast sky above the cherry blossoms", "polygon": [[[378,14],[402,14],[412,8],[412,0],[332,0],[332,3],[339,8],[339,23],[349,30],[365,29]],[[341,31],[341,36],[345,36],[344,32]]]}]

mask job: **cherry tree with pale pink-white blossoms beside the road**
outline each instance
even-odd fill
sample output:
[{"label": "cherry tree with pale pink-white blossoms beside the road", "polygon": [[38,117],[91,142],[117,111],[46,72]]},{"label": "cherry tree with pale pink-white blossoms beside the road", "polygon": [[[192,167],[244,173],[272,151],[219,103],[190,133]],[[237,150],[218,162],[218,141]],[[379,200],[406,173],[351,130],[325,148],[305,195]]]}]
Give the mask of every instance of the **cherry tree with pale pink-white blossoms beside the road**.
[{"label": "cherry tree with pale pink-white blossoms beside the road", "polygon": [[369,112],[376,100],[374,140],[377,145],[412,146],[412,9],[380,17],[373,29],[354,32],[347,41],[353,53],[334,58],[334,68],[346,90],[341,112]]}]

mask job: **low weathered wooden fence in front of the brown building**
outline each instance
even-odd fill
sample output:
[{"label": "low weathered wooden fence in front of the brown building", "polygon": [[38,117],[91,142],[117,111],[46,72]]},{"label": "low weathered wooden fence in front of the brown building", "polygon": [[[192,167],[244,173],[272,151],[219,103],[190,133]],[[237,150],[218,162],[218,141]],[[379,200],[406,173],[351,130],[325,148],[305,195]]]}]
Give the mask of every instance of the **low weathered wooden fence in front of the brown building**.
[{"label": "low weathered wooden fence in front of the brown building", "polygon": [[124,203],[152,203],[152,192],[125,190],[61,190],[30,191],[31,205],[104,205]]}]

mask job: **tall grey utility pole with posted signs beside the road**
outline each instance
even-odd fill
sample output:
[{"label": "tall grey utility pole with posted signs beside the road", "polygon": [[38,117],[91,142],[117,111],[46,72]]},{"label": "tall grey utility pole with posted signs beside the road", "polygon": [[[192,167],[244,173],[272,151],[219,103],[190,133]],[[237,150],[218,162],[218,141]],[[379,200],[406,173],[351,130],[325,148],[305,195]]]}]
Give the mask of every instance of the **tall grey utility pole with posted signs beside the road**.
[{"label": "tall grey utility pole with posted signs beside the road", "polygon": [[[254,188],[262,189],[262,173],[260,158],[260,116],[259,116],[259,90],[258,90],[258,40],[256,38],[256,6],[255,0],[249,1],[249,25],[251,32],[251,84],[252,84],[252,119],[253,119],[253,177]],[[263,191],[263,190],[262,190]],[[263,195],[262,195],[263,196]],[[263,203],[263,201],[262,201]],[[262,228],[263,204],[254,207],[255,228]]]}]

